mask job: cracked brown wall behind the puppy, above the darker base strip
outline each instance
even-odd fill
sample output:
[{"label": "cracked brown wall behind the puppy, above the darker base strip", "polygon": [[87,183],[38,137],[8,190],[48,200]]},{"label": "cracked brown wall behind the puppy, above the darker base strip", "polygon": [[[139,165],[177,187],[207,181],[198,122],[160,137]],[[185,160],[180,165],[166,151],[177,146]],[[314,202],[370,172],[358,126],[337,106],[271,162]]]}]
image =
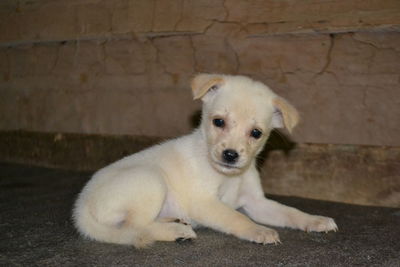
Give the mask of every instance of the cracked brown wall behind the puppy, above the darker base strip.
[{"label": "cracked brown wall behind the puppy, above the darker base strip", "polygon": [[400,145],[400,1],[0,2],[0,130],[175,136],[189,79],[245,74],[299,142]]}]

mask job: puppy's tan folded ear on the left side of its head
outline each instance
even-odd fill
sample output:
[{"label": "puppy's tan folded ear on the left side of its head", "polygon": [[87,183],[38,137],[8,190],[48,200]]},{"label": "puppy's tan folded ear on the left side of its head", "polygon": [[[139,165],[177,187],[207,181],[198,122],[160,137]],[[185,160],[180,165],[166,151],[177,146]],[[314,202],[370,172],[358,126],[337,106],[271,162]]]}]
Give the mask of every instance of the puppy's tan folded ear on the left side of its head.
[{"label": "puppy's tan folded ear on the left side of its head", "polygon": [[193,99],[202,98],[209,90],[216,90],[224,83],[221,75],[217,74],[198,74],[193,78],[191,86]]}]

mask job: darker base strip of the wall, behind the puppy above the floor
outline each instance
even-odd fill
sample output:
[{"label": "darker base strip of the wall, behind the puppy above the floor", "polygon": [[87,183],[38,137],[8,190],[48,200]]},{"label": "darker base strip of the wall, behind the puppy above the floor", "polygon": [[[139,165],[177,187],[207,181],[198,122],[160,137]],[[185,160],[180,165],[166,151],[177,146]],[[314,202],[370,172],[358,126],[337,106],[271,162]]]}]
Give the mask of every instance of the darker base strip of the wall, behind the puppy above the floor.
[{"label": "darker base strip of the wall, behind the puppy above the floor", "polygon": [[[0,161],[96,170],[161,142],[159,137],[0,132]],[[266,193],[400,207],[400,148],[280,142],[259,162]]]}]

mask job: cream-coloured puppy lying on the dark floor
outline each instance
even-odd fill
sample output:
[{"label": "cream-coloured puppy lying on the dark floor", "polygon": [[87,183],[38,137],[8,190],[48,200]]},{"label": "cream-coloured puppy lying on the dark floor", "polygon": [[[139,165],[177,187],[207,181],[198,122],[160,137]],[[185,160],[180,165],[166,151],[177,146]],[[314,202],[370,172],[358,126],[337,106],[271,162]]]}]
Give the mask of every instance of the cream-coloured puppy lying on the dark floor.
[{"label": "cream-coloured puppy lying on the dark floor", "polygon": [[263,225],[337,230],[331,218],[264,197],[255,159],[273,128],[297,124],[294,107],[244,76],[199,74],[191,86],[203,101],[200,127],[95,173],[73,210],[81,234],[140,248],[196,238],[199,225],[261,244],[280,242]]}]

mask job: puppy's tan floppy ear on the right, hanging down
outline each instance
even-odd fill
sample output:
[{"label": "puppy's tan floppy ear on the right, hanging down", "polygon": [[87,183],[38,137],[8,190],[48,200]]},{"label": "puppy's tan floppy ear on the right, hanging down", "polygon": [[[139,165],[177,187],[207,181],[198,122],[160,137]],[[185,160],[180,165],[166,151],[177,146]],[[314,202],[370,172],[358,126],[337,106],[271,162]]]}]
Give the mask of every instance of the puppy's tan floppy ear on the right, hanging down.
[{"label": "puppy's tan floppy ear on the right, hanging down", "polygon": [[282,97],[278,96],[274,98],[272,102],[275,107],[274,113],[272,114],[272,128],[286,127],[291,133],[300,120],[299,113]]}]

